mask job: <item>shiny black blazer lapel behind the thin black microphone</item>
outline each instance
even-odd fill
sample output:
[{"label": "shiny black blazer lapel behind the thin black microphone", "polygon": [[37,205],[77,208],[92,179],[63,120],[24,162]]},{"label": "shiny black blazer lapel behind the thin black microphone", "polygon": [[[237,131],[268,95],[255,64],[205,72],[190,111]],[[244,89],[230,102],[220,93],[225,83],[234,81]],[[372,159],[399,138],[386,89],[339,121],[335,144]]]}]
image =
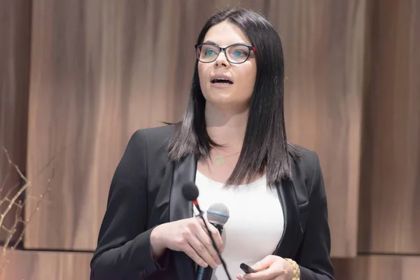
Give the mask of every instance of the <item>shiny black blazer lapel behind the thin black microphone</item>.
[{"label": "shiny black blazer lapel behind the thin black microphone", "polygon": [[[197,160],[192,155],[174,164],[171,195],[169,198],[170,222],[193,217],[193,204],[183,197],[182,187],[188,181],[195,181],[196,171]],[[174,251],[173,255],[178,279],[194,280],[195,262],[183,252]]]}]

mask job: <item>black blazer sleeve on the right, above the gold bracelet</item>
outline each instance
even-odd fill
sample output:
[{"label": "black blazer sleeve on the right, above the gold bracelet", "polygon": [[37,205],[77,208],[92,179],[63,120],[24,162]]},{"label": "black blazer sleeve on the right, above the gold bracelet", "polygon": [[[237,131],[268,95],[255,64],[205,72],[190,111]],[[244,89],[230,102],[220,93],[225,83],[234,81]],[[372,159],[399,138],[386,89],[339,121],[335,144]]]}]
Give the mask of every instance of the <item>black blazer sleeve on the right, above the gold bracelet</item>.
[{"label": "black blazer sleeve on the right, above the gold bracelet", "polygon": [[334,279],[334,269],[330,260],[327,197],[319,158],[316,153],[313,155],[309,216],[296,262],[300,266],[301,280],[330,280]]}]

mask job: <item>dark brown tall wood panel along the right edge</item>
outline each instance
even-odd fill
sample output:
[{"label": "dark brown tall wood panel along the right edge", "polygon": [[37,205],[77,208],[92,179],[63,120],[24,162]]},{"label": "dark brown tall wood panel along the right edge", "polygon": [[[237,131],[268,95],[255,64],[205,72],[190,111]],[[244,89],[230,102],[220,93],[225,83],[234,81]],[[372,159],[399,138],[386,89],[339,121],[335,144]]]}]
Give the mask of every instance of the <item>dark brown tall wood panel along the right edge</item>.
[{"label": "dark brown tall wood panel along the right edge", "polygon": [[372,1],[359,251],[420,253],[420,3]]}]

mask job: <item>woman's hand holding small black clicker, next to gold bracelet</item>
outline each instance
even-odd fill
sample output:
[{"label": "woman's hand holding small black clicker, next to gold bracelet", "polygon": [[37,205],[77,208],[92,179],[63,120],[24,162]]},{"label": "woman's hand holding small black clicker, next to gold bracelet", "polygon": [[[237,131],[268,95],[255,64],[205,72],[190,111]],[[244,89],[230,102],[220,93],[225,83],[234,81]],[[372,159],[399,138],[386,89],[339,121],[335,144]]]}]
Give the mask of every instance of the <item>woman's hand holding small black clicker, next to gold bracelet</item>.
[{"label": "woman's hand holding small black clicker, next to gold bracelet", "polygon": [[257,272],[238,274],[239,280],[290,280],[293,278],[293,267],[277,255],[267,255],[252,266]]}]

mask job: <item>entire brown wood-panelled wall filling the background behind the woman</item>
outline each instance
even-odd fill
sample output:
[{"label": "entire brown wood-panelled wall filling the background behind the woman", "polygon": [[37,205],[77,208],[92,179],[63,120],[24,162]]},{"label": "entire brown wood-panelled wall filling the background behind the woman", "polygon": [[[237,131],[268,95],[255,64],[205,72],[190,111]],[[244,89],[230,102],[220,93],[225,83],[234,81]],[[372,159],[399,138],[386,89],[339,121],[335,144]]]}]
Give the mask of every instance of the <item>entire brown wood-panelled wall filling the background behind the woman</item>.
[{"label": "entire brown wood-panelled wall filling the background behind the woman", "polygon": [[0,0],[0,279],[89,279],[128,139],[181,118],[198,32],[234,6],[282,38],[336,279],[419,279],[417,0]]}]

